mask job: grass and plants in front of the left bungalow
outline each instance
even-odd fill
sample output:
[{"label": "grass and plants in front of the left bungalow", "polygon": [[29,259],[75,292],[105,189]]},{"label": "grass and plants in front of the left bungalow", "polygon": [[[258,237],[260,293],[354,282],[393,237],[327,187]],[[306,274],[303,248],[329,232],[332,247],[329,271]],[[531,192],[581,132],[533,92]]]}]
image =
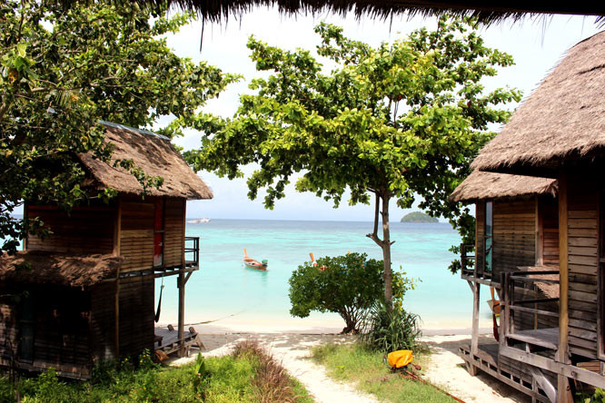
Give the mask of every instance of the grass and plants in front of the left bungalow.
[{"label": "grass and plants in front of the left bungalow", "polygon": [[[35,378],[19,378],[11,385],[0,374],[0,403],[16,402],[15,390],[27,403],[313,402],[307,391],[263,349],[248,349],[246,353],[235,349],[230,356],[202,361],[164,368],[151,362],[147,355],[136,368],[126,360],[117,366],[97,367],[89,382],[64,381],[56,377],[54,370],[48,370]],[[263,366],[263,362],[268,361],[273,361],[274,368],[266,375],[267,364]],[[276,374],[281,386],[279,396],[268,386]]]}]

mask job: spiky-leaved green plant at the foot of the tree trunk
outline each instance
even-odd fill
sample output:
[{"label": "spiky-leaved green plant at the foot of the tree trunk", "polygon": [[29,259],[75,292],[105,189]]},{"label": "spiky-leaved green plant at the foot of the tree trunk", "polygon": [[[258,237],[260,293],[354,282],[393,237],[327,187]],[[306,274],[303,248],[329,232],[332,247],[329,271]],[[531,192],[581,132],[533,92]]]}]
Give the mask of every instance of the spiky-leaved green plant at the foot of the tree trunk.
[{"label": "spiky-leaved green plant at the foot of the tree trunk", "polygon": [[395,305],[387,310],[378,302],[362,322],[362,341],[370,349],[389,353],[398,349],[414,349],[421,334],[420,316]]}]

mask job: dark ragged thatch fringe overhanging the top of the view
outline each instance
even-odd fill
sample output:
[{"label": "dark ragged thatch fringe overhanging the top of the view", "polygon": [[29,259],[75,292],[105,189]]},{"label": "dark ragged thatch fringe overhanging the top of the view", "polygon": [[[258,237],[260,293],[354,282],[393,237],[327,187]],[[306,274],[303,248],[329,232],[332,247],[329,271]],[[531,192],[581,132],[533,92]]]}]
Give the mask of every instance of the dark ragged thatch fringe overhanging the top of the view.
[{"label": "dark ragged thatch fringe overhanging the top of the view", "polygon": [[[158,0],[137,0],[138,3],[157,4]],[[525,15],[595,15],[605,20],[602,2],[556,3],[536,0],[491,1],[473,0],[169,0],[169,5],[192,10],[209,21],[226,20],[229,15],[242,15],[262,5],[277,7],[283,14],[318,14],[329,11],[337,14],[354,13],[358,17],[387,18],[391,15],[474,15],[481,23],[490,24],[505,18],[520,19]]]}]

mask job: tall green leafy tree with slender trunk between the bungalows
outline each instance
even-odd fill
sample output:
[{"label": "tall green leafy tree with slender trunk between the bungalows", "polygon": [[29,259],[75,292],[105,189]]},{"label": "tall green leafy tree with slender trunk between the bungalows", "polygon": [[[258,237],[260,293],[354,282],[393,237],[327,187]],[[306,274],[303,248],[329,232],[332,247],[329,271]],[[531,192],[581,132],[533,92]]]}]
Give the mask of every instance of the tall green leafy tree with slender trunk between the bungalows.
[{"label": "tall green leafy tree with slender trunk between the bungalows", "polygon": [[[256,93],[241,96],[233,119],[198,116],[205,132],[200,150],[186,154],[197,169],[230,179],[239,168],[258,164],[248,178],[249,197],[266,189],[265,206],[284,196],[296,172],[300,192],[315,192],[350,204],[375,200],[368,237],[382,248],[385,299],[392,301],[389,202],[443,215],[454,223],[469,215],[448,196],[468,174],[471,158],[510,113],[500,105],[520,100],[514,90],[484,93],[481,78],[512,64],[491,49],[471,19],[439,20],[435,31],[416,30],[377,48],[346,38],[342,29],[321,24],[317,53],[336,66],[324,74],[309,51],[269,46],[252,37],[248,47],[259,71]],[[382,238],[379,236],[382,221]]]}]

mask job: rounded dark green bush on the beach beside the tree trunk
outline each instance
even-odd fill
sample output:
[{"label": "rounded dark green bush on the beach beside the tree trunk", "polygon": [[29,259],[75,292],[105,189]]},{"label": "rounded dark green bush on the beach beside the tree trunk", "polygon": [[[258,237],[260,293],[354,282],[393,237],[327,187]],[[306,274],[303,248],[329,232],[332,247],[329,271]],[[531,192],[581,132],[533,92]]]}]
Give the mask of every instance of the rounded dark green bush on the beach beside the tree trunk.
[{"label": "rounded dark green bush on the beach beside the tree trunk", "polygon": [[[382,260],[365,253],[323,257],[314,266],[304,262],[290,278],[290,313],[306,318],[312,310],[338,313],[346,324],[343,333],[357,332],[364,312],[384,299]],[[393,300],[401,306],[403,295],[413,289],[404,272],[393,272]]]}]

